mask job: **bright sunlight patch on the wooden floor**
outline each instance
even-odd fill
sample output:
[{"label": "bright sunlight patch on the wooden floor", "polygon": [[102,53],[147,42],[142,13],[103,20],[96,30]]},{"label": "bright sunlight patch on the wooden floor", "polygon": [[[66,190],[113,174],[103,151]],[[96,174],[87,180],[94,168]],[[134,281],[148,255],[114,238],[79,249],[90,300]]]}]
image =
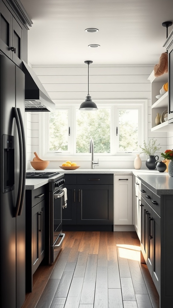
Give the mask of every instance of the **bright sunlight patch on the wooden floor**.
[{"label": "bright sunlight patch on the wooden floor", "polygon": [[140,261],[140,247],[135,245],[117,244],[120,258]]}]

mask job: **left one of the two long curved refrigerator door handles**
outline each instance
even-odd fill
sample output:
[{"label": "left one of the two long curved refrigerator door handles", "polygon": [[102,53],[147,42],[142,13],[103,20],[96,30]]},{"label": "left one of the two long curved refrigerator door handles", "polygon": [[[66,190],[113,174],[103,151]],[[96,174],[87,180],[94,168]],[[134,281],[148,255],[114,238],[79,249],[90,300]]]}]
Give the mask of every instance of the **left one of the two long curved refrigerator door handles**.
[{"label": "left one of the two long curved refrigerator door handles", "polygon": [[22,132],[21,132],[21,127],[20,127],[20,120],[18,116],[18,111],[16,107],[13,107],[14,111],[14,118],[16,119],[16,126],[18,130],[18,139],[19,139],[19,168],[20,168],[20,173],[19,173],[19,185],[18,185],[18,195],[17,195],[17,201],[16,201],[16,207],[15,207],[15,214],[14,216],[18,216],[19,208],[20,208],[20,201],[21,201],[21,196],[22,196],[22,181],[23,181],[23,153],[22,153]]}]

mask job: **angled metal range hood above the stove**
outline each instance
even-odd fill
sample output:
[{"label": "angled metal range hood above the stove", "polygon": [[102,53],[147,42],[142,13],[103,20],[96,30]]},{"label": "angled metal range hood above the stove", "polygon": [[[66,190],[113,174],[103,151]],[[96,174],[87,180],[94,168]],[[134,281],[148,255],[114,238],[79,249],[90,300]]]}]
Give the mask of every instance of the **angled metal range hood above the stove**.
[{"label": "angled metal range hood above the stove", "polygon": [[54,111],[55,104],[35,72],[24,61],[22,71],[25,73],[25,111]]}]

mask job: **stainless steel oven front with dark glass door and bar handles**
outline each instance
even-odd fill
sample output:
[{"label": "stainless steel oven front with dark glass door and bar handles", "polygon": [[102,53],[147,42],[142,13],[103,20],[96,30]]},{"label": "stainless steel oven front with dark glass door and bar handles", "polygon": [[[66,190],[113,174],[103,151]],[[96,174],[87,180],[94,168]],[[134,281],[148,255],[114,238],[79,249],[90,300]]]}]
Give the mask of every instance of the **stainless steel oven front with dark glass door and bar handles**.
[{"label": "stainless steel oven front with dark glass door and bar handles", "polygon": [[54,263],[58,253],[62,247],[65,234],[62,233],[62,197],[64,191],[62,185],[65,179],[60,179],[54,183],[49,183],[49,209],[50,209],[50,248],[49,248],[49,264]]}]

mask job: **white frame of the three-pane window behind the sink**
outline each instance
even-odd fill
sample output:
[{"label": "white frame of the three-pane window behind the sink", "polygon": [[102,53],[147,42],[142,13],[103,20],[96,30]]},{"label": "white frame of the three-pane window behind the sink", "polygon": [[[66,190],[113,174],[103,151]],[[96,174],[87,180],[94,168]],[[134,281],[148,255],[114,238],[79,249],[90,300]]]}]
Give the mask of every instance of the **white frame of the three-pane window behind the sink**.
[{"label": "white frame of the three-pane window behind the sink", "polygon": [[[134,107],[135,109],[139,108],[139,125],[141,126],[141,131],[143,136],[139,136],[139,144],[143,144],[143,140],[147,140],[148,137],[148,100],[147,99],[95,99],[95,103],[98,105],[98,107],[111,107],[111,132],[110,132],[110,138],[111,138],[111,152],[115,152],[115,142],[113,140],[114,134],[113,131],[116,132],[116,124],[117,121],[114,121],[115,118],[115,111],[119,107],[120,109],[123,107]],[[69,109],[69,126],[70,126],[70,148],[72,147],[72,143],[75,142],[74,140],[74,131],[75,131],[75,108],[79,107],[81,103],[81,100],[64,100],[63,104],[62,102],[56,103],[57,108],[62,109]],[[87,111],[81,111],[81,112],[87,112]],[[97,111],[93,111],[97,112]],[[66,160],[78,160],[78,161],[85,161],[89,159],[91,156],[90,153],[51,153],[48,152],[48,143],[47,138],[45,138],[45,132],[48,132],[48,112],[39,112],[39,153],[40,156],[44,160],[52,160],[52,161],[66,161]],[[138,152],[133,153],[95,153],[95,156],[99,158],[100,161],[118,161],[120,158],[124,161],[133,161],[136,154]],[[145,154],[140,154],[141,160],[146,160],[147,156]]]}]

